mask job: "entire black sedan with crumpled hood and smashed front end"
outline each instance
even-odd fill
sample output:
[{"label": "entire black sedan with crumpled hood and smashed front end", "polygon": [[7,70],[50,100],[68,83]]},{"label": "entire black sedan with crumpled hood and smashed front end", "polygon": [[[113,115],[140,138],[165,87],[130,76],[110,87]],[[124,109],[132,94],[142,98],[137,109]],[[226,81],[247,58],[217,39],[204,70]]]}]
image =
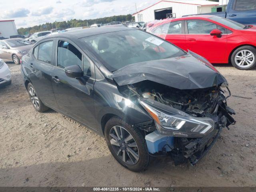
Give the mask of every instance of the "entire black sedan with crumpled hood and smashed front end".
[{"label": "entire black sedan with crumpled hood and smashed front end", "polygon": [[52,108],[104,138],[132,171],[151,156],[196,164],[234,124],[226,79],[204,58],[122,26],[66,32],[22,57],[34,108]]}]

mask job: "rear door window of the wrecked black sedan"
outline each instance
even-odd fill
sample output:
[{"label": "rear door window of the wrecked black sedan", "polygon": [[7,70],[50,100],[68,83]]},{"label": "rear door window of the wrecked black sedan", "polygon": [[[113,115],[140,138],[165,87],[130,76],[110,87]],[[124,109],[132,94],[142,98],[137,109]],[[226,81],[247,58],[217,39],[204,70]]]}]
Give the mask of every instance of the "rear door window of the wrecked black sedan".
[{"label": "rear door window of the wrecked black sedan", "polygon": [[52,61],[52,44],[53,41],[43,42],[39,45],[38,49],[38,60],[46,63],[51,63]]}]

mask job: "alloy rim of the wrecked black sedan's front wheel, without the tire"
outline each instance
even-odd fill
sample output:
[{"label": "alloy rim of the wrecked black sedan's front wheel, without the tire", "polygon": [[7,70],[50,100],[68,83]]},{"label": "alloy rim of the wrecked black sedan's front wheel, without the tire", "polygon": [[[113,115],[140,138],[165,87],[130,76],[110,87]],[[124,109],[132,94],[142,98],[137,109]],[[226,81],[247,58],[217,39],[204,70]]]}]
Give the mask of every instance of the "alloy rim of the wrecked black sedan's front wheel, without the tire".
[{"label": "alloy rim of the wrecked black sedan's front wheel, without the tire", "polygon": [[109,134],[110,144],[123,162],[127,164],[136,164],[139,160],[140,153],[138,145],[132,134],[121,126],[113,126]]}]

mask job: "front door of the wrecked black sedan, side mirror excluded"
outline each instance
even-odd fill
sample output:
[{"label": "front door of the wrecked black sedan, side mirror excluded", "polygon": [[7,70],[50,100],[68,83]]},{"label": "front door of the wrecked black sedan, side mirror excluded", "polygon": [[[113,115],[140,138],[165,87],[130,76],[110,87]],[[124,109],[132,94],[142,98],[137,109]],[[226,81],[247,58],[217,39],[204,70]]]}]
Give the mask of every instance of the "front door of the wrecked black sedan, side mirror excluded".
[{"label": "front door of the wrecked black sedan, side mirror excluded", "polygon": [[[58,39],[55,55],[52,87],[59,110],[95,129],[94,64],[74,42],[64,38]],[[66,76],[64,68],[72,65],[80,66],[84,77],[76,79]]]}]

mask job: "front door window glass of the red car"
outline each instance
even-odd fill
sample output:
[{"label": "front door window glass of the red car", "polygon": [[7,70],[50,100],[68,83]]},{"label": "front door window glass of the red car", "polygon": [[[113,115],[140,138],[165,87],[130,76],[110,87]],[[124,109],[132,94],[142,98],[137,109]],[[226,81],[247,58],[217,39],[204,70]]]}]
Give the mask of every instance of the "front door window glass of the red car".
[{"label": "front door window glass of the red car", "polygon": [[204,20],[187,20],[189,34],[210,34],[216,24]]}]

